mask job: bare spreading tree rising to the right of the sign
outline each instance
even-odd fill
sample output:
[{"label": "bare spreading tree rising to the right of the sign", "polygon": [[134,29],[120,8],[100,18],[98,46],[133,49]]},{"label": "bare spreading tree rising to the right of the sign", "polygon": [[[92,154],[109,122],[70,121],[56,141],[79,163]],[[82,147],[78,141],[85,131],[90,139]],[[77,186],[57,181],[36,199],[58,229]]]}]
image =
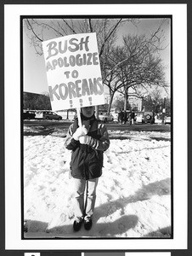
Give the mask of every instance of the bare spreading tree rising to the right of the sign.
[{"label": "bare spreading tree rising to the right of the sign", "polygon": [[144,97],[155,86],[167,89],[165,67],[159,55],[163,49],[161,39],[160,25],[150,38],[127,35],[123,38],[123,46],[111,49],[103,76],[104,84],[110,88],[110,103],[119,91],[125,96],[126,110],[128,95]]}]

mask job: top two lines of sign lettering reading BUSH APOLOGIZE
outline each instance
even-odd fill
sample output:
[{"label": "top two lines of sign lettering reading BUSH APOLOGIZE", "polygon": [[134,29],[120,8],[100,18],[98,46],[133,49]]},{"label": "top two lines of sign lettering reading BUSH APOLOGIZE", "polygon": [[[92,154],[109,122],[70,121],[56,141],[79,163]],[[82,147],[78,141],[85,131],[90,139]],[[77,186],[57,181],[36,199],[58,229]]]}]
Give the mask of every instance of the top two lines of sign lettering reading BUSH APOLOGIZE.
[{"label": "top two lines of sign lettering reading BUSH APOLOGIZE", "polygon": [[[86,38],[81,38],[80,42],[77,38],[71,38],[69,41],[59,41],[58,43],[55,41],[51,41],[47,44],[48,48],[48,56],[46,60],[52,58],[52,61],[47,61],[46,69],[47,72],[49,70],[54,70],[56,67],[81,67],[83,65],[99,65],[99,56],[98,52],[88,52],[88,42],[89,36]],[[71,53],[75,53],[76,51],[81,51],[85,49],[88,53],[81,54],[71,54],[69,56],[54,58],[56,55],[65,54],[67,51]]]}]

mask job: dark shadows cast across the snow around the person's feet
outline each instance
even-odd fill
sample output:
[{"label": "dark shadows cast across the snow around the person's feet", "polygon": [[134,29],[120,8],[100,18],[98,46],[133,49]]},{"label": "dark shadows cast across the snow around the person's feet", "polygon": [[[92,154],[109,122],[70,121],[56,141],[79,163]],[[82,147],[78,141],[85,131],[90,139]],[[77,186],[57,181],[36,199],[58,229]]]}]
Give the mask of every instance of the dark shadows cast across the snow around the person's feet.
[{"label": "dark shadows cast across the snow around the person's feet", "polygon": [[[28,232],[47,232],[52,234],[54,237],[94,237],[95,234],[97,238],[99,237],[121,237],[121,234],[127,232],[127,230],[133,229],[138,224],[138,217],[136,215],[125,215],[125,207],[129,203],[134,203],[137,201],[149,200],[153,195],[170,195],[171,194],[171,179],[166,178],[164,180],[150,183],[148,185],[143,185],[141,189],[138,189],[134,195],[130,195],[127,198],[119,198],[116,201],[108,201],[99,207],[95,207],[93,215],[93,228],[89,231],[82,230],[78,232],[73,232],[72,224],[59,225],[51,229],[48,229],[48,223],[43,223],[35,220],[27,220],[25,224],[25,230]],[[121,218],[112,221],[109,215],[121,210]],[[106,212],[108,215],[106,216]],[[99,223],[99,219],[105,217],[107,218],[106,223]],[[111,222],[110,222],[111,221]],[[86,233],[85,233],[86,232]],[[164,232],[165,233],[165,232]],[[170,236],[171,229],[167,231],[167,236]],[[85,235],[86,234],[86,235]],[[156,236],[159,237],[163,234],[163,230],[152,231],[146,236]],[[27,236],[25,236],[27,237]],[[35,236],[34,236],[35,237]],[[95,236],[96,237],[96,236]],[[126,236],[124,236],[126,237]],[[29,238],[29,236],[28,236]],[[32,235],[31,235],[32,238]]]}]

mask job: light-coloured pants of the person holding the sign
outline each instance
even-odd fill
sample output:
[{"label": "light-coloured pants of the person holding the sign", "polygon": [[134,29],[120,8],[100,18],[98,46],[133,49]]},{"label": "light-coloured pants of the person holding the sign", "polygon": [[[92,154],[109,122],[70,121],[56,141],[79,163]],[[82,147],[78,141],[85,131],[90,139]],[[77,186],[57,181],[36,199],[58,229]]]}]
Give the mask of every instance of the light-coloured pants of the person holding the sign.
[{"label": "light-coloured pants of the person holding the sign", "polygon": [[74,178],[76,218],[92,218],[98,180],[98,177],[89,180]]}]

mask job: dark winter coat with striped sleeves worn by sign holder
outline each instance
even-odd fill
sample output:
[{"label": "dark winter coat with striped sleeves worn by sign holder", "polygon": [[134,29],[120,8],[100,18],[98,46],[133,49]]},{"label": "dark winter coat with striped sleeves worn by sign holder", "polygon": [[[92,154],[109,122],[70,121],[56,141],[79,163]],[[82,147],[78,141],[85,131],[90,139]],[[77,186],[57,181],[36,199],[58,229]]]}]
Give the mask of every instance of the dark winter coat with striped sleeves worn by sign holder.
[{"label": "dark winter coat with striped sleeves worn by sign holder", "polygon": [[82,120],[92,137],[89,145],[81,144],[72,135],[78,127],[77,119],[70,126],[65,139],[65,148],[71,150],[71,176],[75,178],[93,179],[102,175],[103,154],[110,146],[110,139],[104,124],[93,119]]}]

